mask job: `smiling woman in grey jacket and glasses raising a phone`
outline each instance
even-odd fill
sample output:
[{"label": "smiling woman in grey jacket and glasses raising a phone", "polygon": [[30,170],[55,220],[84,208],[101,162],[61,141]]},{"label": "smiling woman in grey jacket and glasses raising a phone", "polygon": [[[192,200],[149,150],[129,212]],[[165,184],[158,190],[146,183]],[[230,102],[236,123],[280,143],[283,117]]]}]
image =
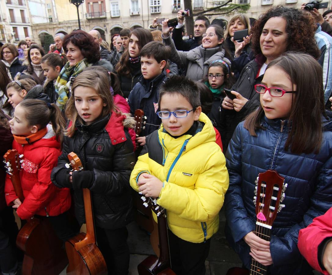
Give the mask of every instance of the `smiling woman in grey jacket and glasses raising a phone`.
[{"label": "smiling woman in grey jacket and glasses raising a phone", "polygon": [[230,61],[225,57],[225,49],[222,46],[223,29],[219,25],[211,25],[203,34],[202,45],[190,51],[181,51],[175,48],[174,42],[169,35],[170,28],[167,26],[168,19],[162,23],[163,42],[171,47],[172,52],[169,60],[179,67],[187,69],[186,76],[192,80],[200,80],[207,75],[208,66],[214,60],[223,60],[230,66]]}]

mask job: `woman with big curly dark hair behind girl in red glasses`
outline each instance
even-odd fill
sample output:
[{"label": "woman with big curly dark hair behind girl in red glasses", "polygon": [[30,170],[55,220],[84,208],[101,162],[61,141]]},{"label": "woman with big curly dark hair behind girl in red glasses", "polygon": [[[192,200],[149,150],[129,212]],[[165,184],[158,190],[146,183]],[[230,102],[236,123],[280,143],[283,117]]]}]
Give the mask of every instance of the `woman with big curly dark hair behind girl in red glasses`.
[{"label": "woman with big curly dark hair behind girl in red glasses", "polygon": [[259,106],[259,94],[254,85],[263,79],[267,65],[287,51],[308,53],[315,59],[320,56],[314,34],[313,18],[301,10],[276,6],[260,16],[251,29],[251,44],[255,59],[242,70],[232,87],[236,97],[222,101],[222,145],[227,148],[233,132],[248,114]]}]

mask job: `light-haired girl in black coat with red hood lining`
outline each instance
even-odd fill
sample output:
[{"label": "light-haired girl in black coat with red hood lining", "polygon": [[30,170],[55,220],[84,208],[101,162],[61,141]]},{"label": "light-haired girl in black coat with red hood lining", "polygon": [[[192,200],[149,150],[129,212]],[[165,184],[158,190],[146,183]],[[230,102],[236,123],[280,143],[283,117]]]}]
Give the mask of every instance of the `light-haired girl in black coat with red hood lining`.
[{"label": "light-haired girl in black coat with red hood lining", "polygon": [[[134,119],[117,113],[108,78],[83,71],[72,84],[65,111],[70,124],[62,155],[51,179],[58,187],[74,189],[75,215],[85,222],[82,188],[91,190],[96,237],[109,274],[128,274],[126,225],[132,221],[129,176],[134,166],[133,144],[127,127]],[[65,168],[68,153],[80,158],[84,170]],[[114,272],[114,273],[112,273]]]}]

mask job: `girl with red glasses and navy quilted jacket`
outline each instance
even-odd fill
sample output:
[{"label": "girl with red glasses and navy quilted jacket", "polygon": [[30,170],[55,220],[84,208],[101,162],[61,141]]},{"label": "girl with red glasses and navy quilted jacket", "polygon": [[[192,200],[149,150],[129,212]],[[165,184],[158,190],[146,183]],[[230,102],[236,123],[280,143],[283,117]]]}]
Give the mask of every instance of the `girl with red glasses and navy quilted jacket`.
[{"label": "girl with red glasses and navy quilted jacket", "polygon": [[[308,54],[285,53],[255,89],[261,105],[237,126],[226,152],[226,238],[248,269],[253,257],[267,274],[312,274],[297,238],[332,206],[332,116],[324,110],[322,67]],[[253,203],[256,177],[268,169],[288,184],[270,241],[254,233]]]}]

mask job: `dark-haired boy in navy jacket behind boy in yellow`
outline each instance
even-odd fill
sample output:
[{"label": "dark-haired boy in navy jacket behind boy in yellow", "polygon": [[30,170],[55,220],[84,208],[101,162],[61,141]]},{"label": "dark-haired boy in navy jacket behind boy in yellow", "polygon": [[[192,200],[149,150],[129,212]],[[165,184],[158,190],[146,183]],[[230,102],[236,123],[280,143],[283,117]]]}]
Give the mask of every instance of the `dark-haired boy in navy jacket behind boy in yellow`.
[{"label": "dark-haired boy in navy jacket behind boy in yellow", "polygon": [[171,48],[159,41],[152,41],[143,46],[140,51],[142,76],[128,97],[130,113],[142,109],[146,116],[145,129],[141,131],[136,141],[145,144],[145,136],[159,128],[161,119],[157,116],[159,110],[159,86],[166,80],[165,66]]}]

